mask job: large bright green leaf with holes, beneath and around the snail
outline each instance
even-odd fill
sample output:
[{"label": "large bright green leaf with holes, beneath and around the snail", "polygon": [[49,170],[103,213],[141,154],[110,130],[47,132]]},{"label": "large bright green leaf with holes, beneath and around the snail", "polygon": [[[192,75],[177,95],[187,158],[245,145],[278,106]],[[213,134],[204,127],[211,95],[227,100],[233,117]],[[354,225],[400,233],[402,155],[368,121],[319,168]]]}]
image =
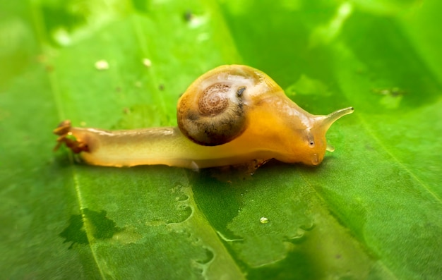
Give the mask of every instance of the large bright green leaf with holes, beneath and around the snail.
[{"label": "large bright green leaf with holes, beneath and around the snail", "polygon": [[[0,272],[6,279],[438,279],[440,1],[0,4]],[[222,64],[313,114],[354,106],[315,168],[253,176],[105,168],[54,153],[59,121],[176,125]]]}]

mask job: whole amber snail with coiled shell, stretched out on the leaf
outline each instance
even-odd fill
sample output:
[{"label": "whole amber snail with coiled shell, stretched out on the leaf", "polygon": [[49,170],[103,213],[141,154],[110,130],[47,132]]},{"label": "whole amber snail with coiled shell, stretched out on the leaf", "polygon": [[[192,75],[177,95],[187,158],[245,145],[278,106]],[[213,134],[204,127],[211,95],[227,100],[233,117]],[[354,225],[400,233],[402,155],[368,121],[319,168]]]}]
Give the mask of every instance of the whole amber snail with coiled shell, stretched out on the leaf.
[{"label": "whole amber snail with coiled shell, stretched out on the leaf", "polygon": [[325,133],[352,107],[325,116],[309,114],[289,99],[268,75],[249,66],[228,65],[195,80],[177,104],[178,127],[54,130],[87,164],[136,166],[165,164],[189,169],[277,159],[318,165]]}]

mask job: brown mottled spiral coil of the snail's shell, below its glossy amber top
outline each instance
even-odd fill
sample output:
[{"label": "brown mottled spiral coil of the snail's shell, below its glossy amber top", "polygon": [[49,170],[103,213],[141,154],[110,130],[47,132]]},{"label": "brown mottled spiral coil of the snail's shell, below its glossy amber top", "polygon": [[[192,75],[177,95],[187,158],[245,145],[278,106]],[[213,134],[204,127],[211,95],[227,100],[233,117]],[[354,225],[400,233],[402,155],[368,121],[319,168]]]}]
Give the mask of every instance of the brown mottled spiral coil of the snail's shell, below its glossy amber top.
[{"label": "brown mottled spiral coil of the snail's shell, below its glossy amber top", "polygon": [[232,141],[246,128],[243,92],[246,87],[213,80],[189,90],[179,99],[177,120],[181,133],[200,145]]}]

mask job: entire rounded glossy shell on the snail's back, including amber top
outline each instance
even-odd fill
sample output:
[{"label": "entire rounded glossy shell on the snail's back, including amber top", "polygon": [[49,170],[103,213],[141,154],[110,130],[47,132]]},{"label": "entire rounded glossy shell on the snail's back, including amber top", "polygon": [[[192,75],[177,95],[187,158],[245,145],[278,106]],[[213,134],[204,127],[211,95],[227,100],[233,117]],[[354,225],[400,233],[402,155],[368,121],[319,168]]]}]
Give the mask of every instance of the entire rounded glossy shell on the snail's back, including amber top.
[{"label": "entire rounded glossy shell on the snail's back, including amber top", "polygon": [[261,71],[240,65],[220,66],[205,73],[178,101],[179,130],[205,146],[234,140],[249,123],[253,97],[270,92],[273,85],[278,87],[273,81],[266,83],[268,79]]}]

